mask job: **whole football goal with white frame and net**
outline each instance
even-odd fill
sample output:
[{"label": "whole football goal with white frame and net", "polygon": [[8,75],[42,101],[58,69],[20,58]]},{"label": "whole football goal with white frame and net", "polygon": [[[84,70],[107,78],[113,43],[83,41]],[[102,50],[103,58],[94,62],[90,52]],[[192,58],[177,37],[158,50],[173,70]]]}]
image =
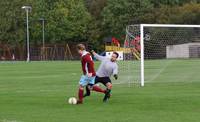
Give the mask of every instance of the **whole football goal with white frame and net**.
[{"label": "whole football goal with white frame and net", "polygon": [[200,58],[200,25],[129,25],[123,58],[120,80],[140,86],[164,77],[168,82],[168,74],[173,75],[166,73],[170,65],[178,59]]}]

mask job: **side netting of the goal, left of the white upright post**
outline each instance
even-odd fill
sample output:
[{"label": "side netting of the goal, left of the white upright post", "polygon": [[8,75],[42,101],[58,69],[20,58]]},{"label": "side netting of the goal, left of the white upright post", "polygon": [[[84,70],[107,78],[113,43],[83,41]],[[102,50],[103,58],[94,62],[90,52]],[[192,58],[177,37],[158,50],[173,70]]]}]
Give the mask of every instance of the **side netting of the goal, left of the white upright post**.
[{"label": "side netting of the goal, left of the white upright post", "polygon": [[118,83],[128,83],[129,86],[140,82],[140,28],[127,26],[123,45],[123,60],[118,61]]}]

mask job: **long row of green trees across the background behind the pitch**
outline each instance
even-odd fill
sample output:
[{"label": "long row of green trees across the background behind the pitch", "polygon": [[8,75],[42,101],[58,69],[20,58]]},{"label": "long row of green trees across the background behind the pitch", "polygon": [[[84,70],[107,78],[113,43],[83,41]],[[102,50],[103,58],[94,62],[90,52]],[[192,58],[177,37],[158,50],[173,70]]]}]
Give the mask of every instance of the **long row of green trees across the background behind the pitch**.
[{"label": "long row of green trees across the background behind the pitch", "polygon": [[[88,42],[102,49],[105,37],[121,43],[129,24],[200,24],[199,0],[6,0],[0,1],[0,43],[25,44],[26,15],[30,5],[30,42],[48,44]],[[99,46],[102,45],[102,46]]]}]

